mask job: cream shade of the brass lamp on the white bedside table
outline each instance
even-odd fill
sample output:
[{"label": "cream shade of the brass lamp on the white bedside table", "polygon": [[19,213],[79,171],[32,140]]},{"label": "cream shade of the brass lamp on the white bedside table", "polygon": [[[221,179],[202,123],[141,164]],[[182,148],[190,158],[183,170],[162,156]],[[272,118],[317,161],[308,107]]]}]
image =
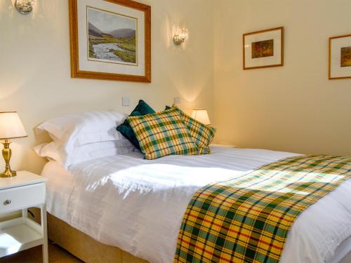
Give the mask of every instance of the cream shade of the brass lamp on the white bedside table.
[{"label": "cream shade of the brass lamp on the white bedside table", "polygon": [[17,112],[0,112],[0,140],[27,137]]}]

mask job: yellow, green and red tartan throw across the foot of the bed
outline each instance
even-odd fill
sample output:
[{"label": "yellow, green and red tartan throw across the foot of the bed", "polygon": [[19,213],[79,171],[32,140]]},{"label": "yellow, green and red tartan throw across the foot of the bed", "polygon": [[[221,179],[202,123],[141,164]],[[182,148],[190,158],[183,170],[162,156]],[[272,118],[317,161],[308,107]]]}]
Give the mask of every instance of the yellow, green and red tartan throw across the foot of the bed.
[{"label": "yellow, green and red tartan throw across the foot of the bed", "polygon": [[279,262],[298,215],[351,178],[351,158],[298,156],[192,197],[174,262]]}]

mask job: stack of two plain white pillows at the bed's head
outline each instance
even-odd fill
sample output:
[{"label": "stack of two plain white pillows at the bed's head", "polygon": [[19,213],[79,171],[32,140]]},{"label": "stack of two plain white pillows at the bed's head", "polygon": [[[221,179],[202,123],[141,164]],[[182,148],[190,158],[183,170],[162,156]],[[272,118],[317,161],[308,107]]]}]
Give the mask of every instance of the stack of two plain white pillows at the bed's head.
[{"label": "stack of two plain white pillows at the bed's head", "polygon": [[48,132],[53,142],[34,147],[39,156],[54,159],[64,168],[104,156],[133,151],[131,142],[117,132],[126,119],[118,112],[85,112],[51,119],[37,127],[37,134]]}]

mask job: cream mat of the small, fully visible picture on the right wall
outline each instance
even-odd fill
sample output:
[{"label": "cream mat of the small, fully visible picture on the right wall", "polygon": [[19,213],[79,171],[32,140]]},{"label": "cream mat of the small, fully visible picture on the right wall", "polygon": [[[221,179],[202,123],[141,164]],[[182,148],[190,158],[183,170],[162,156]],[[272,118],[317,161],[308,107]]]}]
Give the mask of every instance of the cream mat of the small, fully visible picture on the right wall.
[{"label": "cream mat of the small, fully visible picture on the right wall", "polygon": [[[251,43],[265,40],[274,40],[274,56],[264,58],[251,58]],[[282,30],[261,32],[244,36],[245,67],[265,67],[280,65],[282,63]]]}]

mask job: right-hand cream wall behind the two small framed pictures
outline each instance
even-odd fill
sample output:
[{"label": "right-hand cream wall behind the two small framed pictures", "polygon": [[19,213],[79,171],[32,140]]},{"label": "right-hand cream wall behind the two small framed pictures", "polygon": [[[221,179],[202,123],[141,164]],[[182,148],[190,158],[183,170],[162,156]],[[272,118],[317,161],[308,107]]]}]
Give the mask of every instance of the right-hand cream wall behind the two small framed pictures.
[{"label": "right-hand cream wall behind the two small framed pictures", "polygon": [[[351,79],[328,80],[329,36],[351,34],[350,0],[221,0],[215,10],[218,142],[351,155]],[[242,69],[242,34],[285,28],[285,65]]]}]

